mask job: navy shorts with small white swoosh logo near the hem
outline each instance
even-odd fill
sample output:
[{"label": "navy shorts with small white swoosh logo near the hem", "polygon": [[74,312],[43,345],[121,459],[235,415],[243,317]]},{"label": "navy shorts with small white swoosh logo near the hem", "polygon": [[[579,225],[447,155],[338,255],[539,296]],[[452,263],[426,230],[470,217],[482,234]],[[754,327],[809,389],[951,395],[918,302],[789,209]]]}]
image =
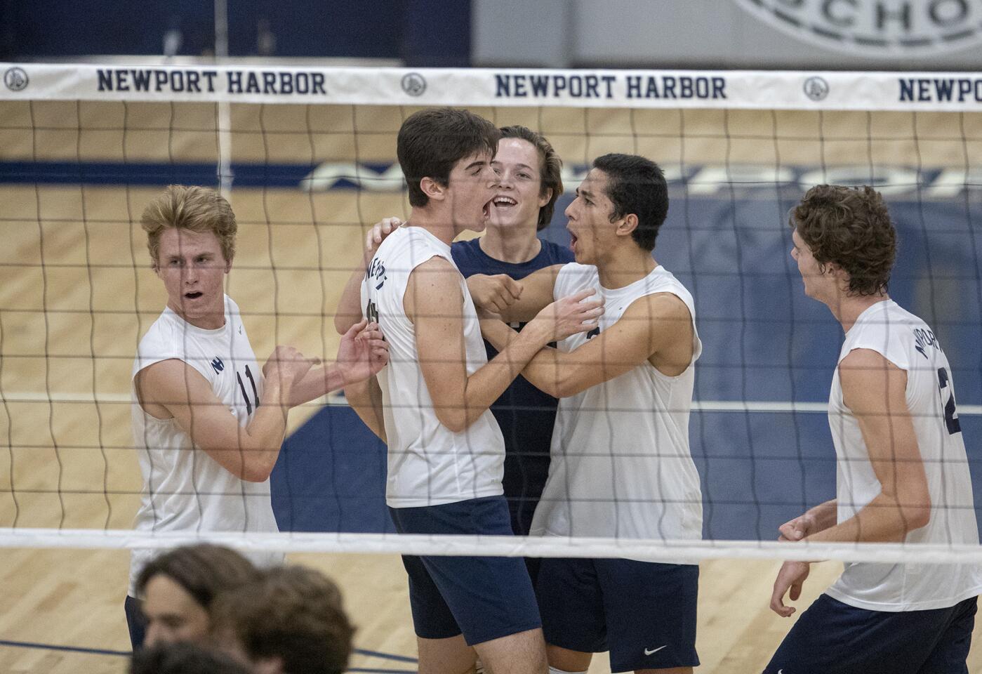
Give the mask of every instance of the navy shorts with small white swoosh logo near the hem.
[{"label": "navy shorts with small white swoosh logo near the hem", "polygon": [[694,667],[699,567],[543,559],[535,592],[546,643],[602,652],[611,671]]}]

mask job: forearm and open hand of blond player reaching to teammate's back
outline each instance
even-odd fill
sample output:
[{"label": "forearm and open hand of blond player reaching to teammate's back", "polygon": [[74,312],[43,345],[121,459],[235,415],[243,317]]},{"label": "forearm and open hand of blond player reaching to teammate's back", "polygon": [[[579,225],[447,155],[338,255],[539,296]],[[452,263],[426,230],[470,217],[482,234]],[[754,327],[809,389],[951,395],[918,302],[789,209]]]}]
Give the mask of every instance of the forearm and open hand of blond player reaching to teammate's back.
[{"label": "forearm and open hand of blond player reaching to teammate's back", "polygon": [[312,367],[290,389],[291,407],[363,381],[389,362],[389,345],[377,323],[362,318],[341,338],[338,357],[331,365]]}]

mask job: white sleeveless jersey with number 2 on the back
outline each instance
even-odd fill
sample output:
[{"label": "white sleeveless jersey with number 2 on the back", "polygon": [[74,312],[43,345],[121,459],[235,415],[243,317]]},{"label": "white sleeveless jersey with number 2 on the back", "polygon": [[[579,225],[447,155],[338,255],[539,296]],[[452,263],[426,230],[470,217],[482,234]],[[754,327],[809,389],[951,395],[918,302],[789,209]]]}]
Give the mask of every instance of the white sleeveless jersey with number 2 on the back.
[{"label": "white sleeveless jersey with number 2 on the back", "polygon": [[[958,428],[952,368],[931,329],[893,300],[859,314],[846,333],[842,362],[854,349],[869,349],[905,370],[906,403],[931,494],[931,519],[905,543],[977,545],[978,529],[965,445]],[[880,493],[859,424],[843,402],[836,369],[829,396],[829,425],[836,446],[838,521],[844,522]],[[828,593],[874,611],[913,611],[953,606],[982,590],[977,565],[846,564]]]}]

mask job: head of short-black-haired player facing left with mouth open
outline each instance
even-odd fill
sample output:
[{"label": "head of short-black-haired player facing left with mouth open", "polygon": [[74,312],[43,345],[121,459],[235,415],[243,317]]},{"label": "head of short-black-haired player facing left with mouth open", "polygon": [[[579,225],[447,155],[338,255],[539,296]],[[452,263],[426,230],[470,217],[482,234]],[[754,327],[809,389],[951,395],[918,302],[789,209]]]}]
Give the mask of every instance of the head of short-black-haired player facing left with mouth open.
[{"label": "head of short-black-haired player facing left with mouth open", "polygon": [[650,254],[668,212],[658,164],[636,154],[597,157],[566,209],[576,261],[603,264],[625,247]]}]

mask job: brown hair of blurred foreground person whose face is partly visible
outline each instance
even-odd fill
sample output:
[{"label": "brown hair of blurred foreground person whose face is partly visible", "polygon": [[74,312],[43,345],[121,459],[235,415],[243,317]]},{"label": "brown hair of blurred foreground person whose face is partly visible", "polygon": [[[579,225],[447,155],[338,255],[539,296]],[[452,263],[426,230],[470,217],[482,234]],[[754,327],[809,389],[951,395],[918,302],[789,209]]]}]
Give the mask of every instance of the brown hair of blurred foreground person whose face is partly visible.
[{"label": "brown hair of blurred foreground person whose face is partly visible", "polygon": [[143,594],[154,576],[171,579],[210,612],[219,592],[255,581],[259,572],[235,550],[203,543],[177,547],[151,559],[136,577],[136,593]]}]

